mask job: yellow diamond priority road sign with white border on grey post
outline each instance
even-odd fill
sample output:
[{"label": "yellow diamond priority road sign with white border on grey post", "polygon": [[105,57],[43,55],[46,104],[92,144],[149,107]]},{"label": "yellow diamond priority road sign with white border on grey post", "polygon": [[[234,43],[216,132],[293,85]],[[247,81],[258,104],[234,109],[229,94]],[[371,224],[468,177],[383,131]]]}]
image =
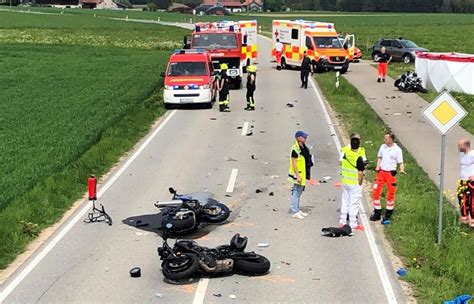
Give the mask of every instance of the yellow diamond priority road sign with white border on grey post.
[{"label": "yellow diamond priority road sign with white border on grey post", "polygon": [[448,92],[441,93],[426,109],[423,115],[437,128],[446,134],[459,123],[467,112]]}]

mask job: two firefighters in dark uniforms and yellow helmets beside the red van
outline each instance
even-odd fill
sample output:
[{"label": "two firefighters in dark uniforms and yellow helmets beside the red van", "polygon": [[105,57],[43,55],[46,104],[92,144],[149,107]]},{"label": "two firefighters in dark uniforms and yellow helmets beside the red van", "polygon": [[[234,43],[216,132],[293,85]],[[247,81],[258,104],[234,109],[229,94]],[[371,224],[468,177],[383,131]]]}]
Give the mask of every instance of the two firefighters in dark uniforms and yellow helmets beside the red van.
[{"label": "two firefighters in dark uniforms and yellow helmets beside the red van", "polygon": [[[227,75],[228,65],[222,63],[220,65],[220,71],[216,77],[216,89],[219,92],[219,111],[230,112],[230,92],[229,92],[229,76]],[[257,89],[257,67],[249,65],[247,69],[247,106],[244,110],[255,111],[255,98],[254,93]]]}]

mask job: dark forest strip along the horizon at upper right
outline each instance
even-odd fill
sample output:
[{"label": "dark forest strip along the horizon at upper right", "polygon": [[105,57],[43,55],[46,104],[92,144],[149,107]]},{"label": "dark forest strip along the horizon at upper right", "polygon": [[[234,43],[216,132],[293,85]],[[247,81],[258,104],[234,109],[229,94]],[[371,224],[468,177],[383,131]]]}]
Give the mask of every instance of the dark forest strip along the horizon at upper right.
[{"label": "dark forest strip along the horizon at upper right", "polygon": [[265,0],[271,11],[474,13],[474,0]]}]

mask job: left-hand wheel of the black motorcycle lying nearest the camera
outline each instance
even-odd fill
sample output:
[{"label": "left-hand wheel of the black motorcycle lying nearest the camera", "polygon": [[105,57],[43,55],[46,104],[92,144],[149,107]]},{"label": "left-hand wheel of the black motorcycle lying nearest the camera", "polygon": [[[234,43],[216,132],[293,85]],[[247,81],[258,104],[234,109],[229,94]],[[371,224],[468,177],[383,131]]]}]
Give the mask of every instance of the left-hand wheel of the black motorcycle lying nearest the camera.
[{"label": "left-hand wheel of the black motorcycle lying nearest the camera", "polygon": [[165,278],[173,281],[189,278],[198,269],[198,257],[192,253],[182,253],[178,258],[165,260],[161,264]]}]

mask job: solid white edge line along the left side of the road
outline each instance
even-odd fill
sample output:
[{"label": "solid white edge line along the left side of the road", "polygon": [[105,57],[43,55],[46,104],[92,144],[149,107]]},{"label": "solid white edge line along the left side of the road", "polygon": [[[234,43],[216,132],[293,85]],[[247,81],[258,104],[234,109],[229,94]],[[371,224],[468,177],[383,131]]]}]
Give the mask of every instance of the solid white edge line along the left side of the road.
[{"label": "solid white edge line along the left side of the road", "polygon": [[[153,131],[153,133],[143,142],[143,144],[138,148],[137,151],[130,157],[127,162],[108,180],[108,182],[101,187],[97,193],[97,198],[100,199],[102,195],[119,179],[119,177],[127,170],[128,167],[133,163],[135,159],[145,150],[145,148],[150,144],[150,142],[155,138],[155,136],[163,129],[163,127],[170,121],[174,116],[176,110],[171,111],[168,117]],[[69,221],[69,223],[60,230],[56,236],[44,247],[34,258],[29,262],[26,267],[18,274],[18,276],[13,279],[13,281],[8,284],[5,289],[0,293],[0,303],[2,303],[8,295],[18,286],[20,283],[30,274],[31,271],[48,255],[48,253],[59,243],[59,241],[74,227],[74,225],[84,217],[86,212],[90,209],[90,204],[84,204],[76,216]]]}]

